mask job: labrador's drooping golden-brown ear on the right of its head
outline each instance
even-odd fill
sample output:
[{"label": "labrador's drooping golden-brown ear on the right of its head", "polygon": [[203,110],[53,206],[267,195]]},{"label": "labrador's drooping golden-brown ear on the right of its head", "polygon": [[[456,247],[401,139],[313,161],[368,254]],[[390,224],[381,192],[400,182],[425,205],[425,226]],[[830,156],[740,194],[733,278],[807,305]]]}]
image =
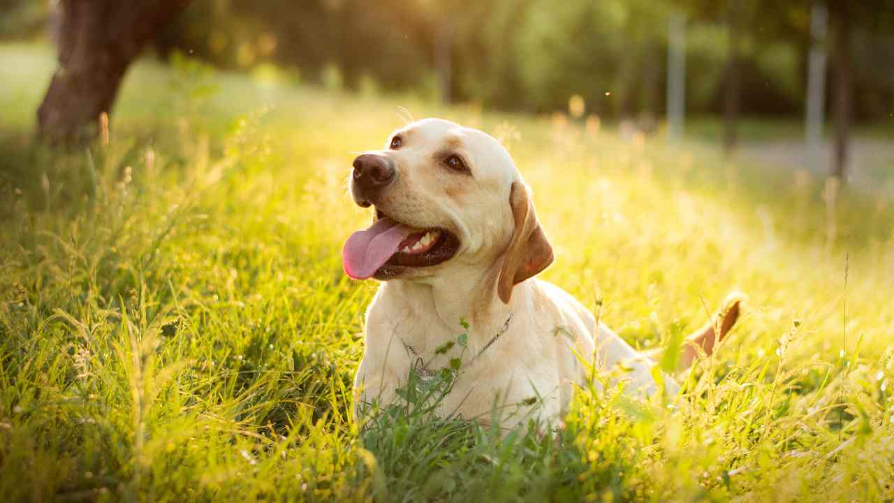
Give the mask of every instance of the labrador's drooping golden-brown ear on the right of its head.
[{"label": "labrador's drooping golden-brown ear on the right of its head", "polygon": [[497,294],[503,303],[509,303],[512,286],[552,264],[552,246],[537,221],[534,201],[525,183],[512,183],[509,204],[515,219],[515,230],[509,247],[503,253],[502,268],[497,278]]}]

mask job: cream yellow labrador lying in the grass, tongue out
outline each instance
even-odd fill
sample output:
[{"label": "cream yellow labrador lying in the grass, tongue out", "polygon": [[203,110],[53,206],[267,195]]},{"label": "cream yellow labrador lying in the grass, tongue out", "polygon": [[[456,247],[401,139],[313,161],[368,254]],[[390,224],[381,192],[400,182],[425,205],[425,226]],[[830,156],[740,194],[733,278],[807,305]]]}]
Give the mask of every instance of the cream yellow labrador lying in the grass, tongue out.
[{"label": "cream yellow labrador lying in the grass, tongue out", "polygon": [[[535,277],[552,263],[552,247],[499,141],[440,119],[408,124],[385,149],[354,160],[350,192],[375,214],[344,244],[344,270],[382,282],[367,310],[359,404],[392,403],[411,372],[431,377],[460,354],[461,371],[438,412],[488,422],[496,406],[506,428],[528,417],[561,419],[594,364],[622,366],[628,392],[655,390],[646,354]],[[699,351],[710,354],[737,317],[738,299],[730,299],[687,339],[680,366]],[[465,345],[444,351],[466,332],[460,320],[468,320]],[[664,380],[676,392],[673,379]]]}]

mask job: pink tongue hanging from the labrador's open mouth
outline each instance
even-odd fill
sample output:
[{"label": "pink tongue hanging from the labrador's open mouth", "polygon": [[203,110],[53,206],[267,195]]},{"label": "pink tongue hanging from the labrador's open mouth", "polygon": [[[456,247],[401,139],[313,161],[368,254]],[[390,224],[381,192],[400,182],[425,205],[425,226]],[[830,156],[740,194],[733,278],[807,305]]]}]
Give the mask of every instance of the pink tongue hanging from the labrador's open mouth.
[{"label": "pink tongue hanging from the labrador's open mouth", "polygon": [[372,277],[413,232],[418,231],[384,217],[368,229],[350,234],[342,248],[344,272],[354,279]]}]

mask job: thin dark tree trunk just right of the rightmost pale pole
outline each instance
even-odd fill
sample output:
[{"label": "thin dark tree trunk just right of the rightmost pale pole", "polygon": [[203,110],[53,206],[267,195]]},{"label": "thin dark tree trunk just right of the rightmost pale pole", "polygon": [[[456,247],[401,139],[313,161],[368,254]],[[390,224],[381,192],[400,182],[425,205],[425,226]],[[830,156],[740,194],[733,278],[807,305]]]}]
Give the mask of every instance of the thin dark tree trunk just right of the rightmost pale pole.
[{"label": "thin dark tree trunk just right of the rightmost pale pole", "polygon": [[845,180],[848,170],[848,147],[850,144],[851,89],[850,67],[850,19],[847,8],[836,12],[835,23],[835,155],[831,175]]}]

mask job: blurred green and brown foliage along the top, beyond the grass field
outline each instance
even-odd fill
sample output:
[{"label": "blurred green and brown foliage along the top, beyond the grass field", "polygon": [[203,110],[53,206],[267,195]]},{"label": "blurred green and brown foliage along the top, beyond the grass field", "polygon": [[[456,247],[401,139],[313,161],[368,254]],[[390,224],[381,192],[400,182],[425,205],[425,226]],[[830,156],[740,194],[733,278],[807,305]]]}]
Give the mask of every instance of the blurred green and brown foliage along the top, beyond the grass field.
[{"label": "blurred green and brown foliage along the top, beyond the grass field", "polygon": [[[742,113],[800,118],[810,3],[741,4]],[[863,10],[852,14],[855,113],[860,121],[886,121],[894,101],[894,4],[878,0]],[[3,0],[4,11],[6,37],[42,30],[49,12],[30,0]],[[687,65],[694,71],[687,72],[687,112],[718,114],[729,43],[722,2],[199,0],[156,47],[227,68],[276,64],[297,81],[434,97],[438,37],[450,30],[456,101],[551,112],[579,94],[603,118],[654,117],[664,110],[673,12],[689,17]]]}]

